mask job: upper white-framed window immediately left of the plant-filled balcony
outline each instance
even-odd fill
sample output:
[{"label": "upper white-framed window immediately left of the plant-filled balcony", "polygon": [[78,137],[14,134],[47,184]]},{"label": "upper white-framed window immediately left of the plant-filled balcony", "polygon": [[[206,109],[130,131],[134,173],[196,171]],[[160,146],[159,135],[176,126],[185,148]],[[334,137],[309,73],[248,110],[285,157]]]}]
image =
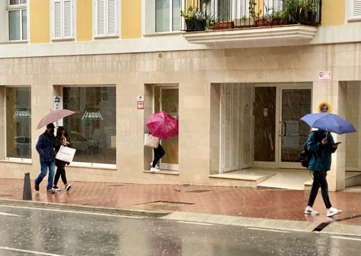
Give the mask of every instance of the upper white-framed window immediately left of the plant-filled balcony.
[{"label": "upper white-framed window immediately left of the plant-filled balcony", "polygon": [[181,30],[181,0],[156,0],[155,32]]}]

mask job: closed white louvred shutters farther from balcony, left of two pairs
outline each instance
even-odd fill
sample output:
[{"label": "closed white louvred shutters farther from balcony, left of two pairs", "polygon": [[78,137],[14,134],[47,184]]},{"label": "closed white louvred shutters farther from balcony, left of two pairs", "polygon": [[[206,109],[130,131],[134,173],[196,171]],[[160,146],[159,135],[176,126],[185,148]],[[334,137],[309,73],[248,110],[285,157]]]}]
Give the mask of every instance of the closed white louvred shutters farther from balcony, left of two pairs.
[{"label": "closed white louvred shutters farther from balcony, left of two pairs", "polygon": [[74,39],[74,1],[51,0],[52,39]]}]

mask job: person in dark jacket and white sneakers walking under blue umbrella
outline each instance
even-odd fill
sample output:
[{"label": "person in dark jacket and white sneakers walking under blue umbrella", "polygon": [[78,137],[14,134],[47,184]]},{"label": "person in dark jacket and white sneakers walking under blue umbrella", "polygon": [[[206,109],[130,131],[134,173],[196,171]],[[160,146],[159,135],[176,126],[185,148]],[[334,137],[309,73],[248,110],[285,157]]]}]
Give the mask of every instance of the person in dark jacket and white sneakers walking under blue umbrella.
[{"label": "person in dark jacket and white sneakers walking under blue umbrella", "polygon": [[320,187],[321,195],[327,208],[327,216],[330,217],[342,212],[342,210],[332,207],[328,196],[328,183],[326,180],[327,171],[330,171],[331,167],[331,154],[335,153],[338,144],[335,144],[332,135],[325,130],[316,130],[308,135],[307,148],[312,153],[308,169],[312,172],[313,183],[305,214],[319,214],[319,212],[313,210],[312,206]]}]

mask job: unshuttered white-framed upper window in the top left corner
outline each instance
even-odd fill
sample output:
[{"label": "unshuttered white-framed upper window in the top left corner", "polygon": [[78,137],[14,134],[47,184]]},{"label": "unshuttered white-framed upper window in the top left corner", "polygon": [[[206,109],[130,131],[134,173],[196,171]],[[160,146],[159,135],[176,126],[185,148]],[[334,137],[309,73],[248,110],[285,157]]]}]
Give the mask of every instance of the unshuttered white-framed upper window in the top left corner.
[{"label": "unshuttered white-framed upper window in the top left corner", "polygon": [[26,0],[8,0],[9,40],[28,39]]}]

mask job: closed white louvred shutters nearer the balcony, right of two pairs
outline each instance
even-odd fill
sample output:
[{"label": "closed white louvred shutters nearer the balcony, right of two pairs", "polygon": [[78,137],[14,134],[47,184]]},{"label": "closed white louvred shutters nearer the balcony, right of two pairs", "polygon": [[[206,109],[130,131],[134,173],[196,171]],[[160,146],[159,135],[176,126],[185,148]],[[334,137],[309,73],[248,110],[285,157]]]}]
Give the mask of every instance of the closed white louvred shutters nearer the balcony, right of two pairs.
[{"label": "closed white louvred shutters nearer the balcony, right of two pairs", "polygon": [[118,35],[118,0],[95,0],[95,36],[114,37]]}]

